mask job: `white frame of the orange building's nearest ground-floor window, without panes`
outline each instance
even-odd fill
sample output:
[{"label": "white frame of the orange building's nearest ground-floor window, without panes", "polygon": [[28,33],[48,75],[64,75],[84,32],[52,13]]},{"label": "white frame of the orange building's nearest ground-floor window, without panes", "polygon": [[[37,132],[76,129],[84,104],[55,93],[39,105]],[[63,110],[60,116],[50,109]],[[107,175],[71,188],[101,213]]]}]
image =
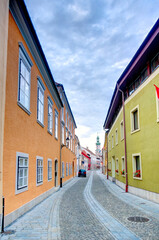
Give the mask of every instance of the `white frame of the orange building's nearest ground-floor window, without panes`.
[{"label": "white frame of the orange building's nearest ground-floor window, without panes", "polygon": [[[27,159],[27,166],[23,168],[27,168],[27,184],[23,185],[22,187],[18,188],[18,177],[19,177],[19,158]],[[24,173],[24,172],[23,172]],[[28,176],[29,176],[29,154],[17,152],[16,153],[16,182],[15,182],[15,194],[19,194],[28,190]]]}]

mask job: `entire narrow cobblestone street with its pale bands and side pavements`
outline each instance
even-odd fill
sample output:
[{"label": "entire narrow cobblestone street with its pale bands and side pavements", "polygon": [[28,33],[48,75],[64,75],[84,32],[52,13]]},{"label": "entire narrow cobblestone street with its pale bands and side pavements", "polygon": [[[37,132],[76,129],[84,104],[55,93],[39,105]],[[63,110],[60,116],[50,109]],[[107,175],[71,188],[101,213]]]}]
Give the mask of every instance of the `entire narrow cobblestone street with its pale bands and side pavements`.
[{"label": "entire narrow cobblestone street with its pale bands and side pavements", "polygon": [[[109,190],[108,190],[109,188]],[[123,197],[122,197],[123,196]],[[100,172],[74,178],[8,226],[6,239],[159,239],[158,204],[138,198]],[[140,216],[148,222],[131,222]]]}]

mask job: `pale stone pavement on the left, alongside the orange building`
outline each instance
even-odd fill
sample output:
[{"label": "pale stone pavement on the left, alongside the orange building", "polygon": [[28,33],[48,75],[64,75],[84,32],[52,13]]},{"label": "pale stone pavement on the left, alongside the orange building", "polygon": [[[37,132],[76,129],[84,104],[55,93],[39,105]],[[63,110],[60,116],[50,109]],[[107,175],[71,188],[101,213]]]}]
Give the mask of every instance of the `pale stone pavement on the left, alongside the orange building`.
[{"label": "pale stone pavement on the left, alongside the orange building", "polygon": [[14,234],[2,234],[2,240],[58,240],[60,239],[59,205],[62,195],[69,187],[75,184],[78,178],[67,183],[60,191],[17,219],[13,224],[5,228],[7,231],[15,231]]}]

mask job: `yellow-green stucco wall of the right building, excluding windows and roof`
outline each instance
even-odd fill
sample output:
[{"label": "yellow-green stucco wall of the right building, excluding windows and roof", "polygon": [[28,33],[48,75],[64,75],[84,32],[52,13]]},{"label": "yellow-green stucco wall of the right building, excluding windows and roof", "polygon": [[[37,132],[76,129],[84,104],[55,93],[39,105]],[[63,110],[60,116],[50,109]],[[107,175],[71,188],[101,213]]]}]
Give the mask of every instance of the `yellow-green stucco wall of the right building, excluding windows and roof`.
[{"label": "yellow-green stucco wall of the right building, excluding windows and roof", "polygon": [[[134,189],[159,193],[159,123],[157,122],[156,90],[154,84],[159,86],[159,68],[157,68],[145,82],[125,101],[126,119],[126,141],[127,141],[127,167],[128,185]],[[131,111],[139,107],[140,129],[131,132]],[[108,139],[111,141],[111,148],[108,151],[108,161],[112,157],[119,160],[119,174],[115,174],[117,181],[125,183],[125,177],[120,173],[121,157],[124,156],[124,140],[120,137],[120,122],[123,119],[122,110],[119,112],[113,126],[111,127]],[[118,129],[118,145],[115,145],[115,130]],[[112,135],[114,136],[114,147],[112,148]],[[109,141],[109,140],[108,140]],[[133,177],[133,154],[141,154],[142,178]],[[112,176],[112,172],[109,172]],[[132,188],[131,188],[132,189]]]}]

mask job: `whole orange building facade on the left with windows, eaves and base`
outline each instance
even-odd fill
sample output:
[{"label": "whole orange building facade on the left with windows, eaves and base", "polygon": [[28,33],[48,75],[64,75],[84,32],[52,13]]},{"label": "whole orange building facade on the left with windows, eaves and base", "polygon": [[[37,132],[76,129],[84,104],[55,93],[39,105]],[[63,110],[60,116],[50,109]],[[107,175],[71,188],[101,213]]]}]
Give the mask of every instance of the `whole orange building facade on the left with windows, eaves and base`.
[{"label": "whole orange building facade on the left with windows, eaves and base", "polygon": [[68,101],[60,97],[23,1],[10,1],[8,21],[2,189],[5,225],[53,193],[60,178],[63,183],[72,178],[76,168],[76,124]]}]

